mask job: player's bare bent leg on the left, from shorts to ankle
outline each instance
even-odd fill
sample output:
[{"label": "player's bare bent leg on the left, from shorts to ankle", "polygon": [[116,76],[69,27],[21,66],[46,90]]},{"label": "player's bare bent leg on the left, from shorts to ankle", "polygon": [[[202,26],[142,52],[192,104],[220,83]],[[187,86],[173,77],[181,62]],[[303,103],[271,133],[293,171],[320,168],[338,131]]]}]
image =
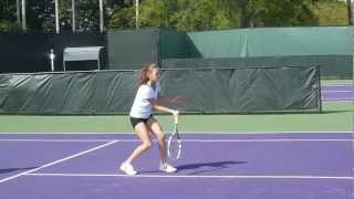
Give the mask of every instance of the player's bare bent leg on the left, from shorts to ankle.
[{"label": "player's bare bent leg on the left, from shorts to ankle", "polygon": [[142,144],[134,149],[132,155],[126,159],[125,163],[132,164],[136,158],[138,158],[144,151],[148,150],[152,147],[152,140],[149,137],[149,130],[145,123],[138,123],[135,126],[135,132],[137,133],[137,136],[142,140]]}]

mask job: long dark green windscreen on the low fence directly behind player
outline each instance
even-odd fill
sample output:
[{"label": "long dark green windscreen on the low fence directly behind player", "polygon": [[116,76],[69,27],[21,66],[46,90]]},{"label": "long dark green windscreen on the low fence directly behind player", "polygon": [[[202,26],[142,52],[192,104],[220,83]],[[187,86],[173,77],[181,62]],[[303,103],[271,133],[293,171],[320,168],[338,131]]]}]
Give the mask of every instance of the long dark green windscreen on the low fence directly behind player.
[{"label": "long dark green windscreen on the low fence directly behind player", "polygon": [[[3,114],[128,113],[137,71],[0,75]],[[321,109],[319,70],[311,67],[162,70],[162,95],[186,113]]]}]

